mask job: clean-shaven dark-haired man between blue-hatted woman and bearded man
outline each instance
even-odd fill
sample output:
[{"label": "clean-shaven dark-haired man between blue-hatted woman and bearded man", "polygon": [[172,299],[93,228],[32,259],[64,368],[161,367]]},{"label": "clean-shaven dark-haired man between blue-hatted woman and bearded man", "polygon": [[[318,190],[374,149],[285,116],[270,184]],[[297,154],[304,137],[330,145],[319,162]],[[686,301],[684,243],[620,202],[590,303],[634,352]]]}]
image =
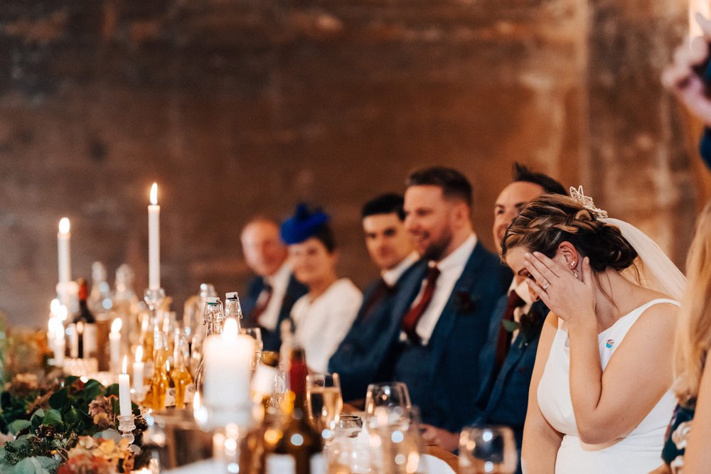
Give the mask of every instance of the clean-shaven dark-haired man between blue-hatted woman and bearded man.
[{"label": "clean-shaven dark-haired man between blue-hatted woman and bearded man", "polygon": [[378,379],[380,358],[373,347],[390,324],[392,303],[402,281],[419,259],[405,230],[402,202],[401,195],[384,194],[365,203],[361,212],[365,247],[380,269],[380,278],[365,289],[351,330],[328,362],[328,370],[341,376],[346,401],[365,398],[368,384]]}]

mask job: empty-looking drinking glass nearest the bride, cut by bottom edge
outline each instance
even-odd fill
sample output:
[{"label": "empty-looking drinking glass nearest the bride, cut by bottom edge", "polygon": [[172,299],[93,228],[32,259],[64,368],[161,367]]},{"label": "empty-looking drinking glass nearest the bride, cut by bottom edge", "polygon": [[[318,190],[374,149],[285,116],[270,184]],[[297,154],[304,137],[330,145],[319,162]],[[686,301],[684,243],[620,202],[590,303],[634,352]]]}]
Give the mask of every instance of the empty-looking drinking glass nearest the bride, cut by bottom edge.
[{"label": "empty-looking drinking glass nearest the bride, cut by bottom edge", "polygon": [[465,426],[459,435],[459,468],[462,474],[513,474],[518,453],[508,426]]}]

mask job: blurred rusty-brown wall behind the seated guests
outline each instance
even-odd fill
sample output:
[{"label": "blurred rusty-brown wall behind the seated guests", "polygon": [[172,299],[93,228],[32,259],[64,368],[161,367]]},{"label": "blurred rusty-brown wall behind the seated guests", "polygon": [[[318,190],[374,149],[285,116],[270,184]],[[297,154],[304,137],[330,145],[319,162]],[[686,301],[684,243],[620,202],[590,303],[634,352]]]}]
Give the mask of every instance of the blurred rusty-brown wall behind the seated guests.
[{"label": "blurred rusty-brown wall behind the seated guests", "polygon": [[685,0],[2,0],[0,308],[44,325],[57,225],[147,286],[159,183],[162,284],[245,291],[240,230],[306,200],[339,269],[375,276],[360,206],[410,171],[458,168],[493,248],[513,161],[584,185],[683,266],[710,197],[699,124],[659,77]]}]

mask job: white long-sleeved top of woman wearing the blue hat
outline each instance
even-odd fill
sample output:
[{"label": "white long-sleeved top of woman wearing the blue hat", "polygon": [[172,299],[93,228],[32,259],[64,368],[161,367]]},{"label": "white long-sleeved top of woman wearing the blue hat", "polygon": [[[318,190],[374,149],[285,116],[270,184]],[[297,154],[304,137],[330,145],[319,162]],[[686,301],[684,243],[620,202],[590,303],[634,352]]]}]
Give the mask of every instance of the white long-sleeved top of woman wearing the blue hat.
[{"label": "white long-sleeved top of woman wearing the blue hat", "polygon": [[362,302],[363,293],[353,281],[342,278],[314,301],[307,293],[294,303],[294,342],[306,351],[309,369],[320,373],[328,370],[328,359],[351,329]]}]

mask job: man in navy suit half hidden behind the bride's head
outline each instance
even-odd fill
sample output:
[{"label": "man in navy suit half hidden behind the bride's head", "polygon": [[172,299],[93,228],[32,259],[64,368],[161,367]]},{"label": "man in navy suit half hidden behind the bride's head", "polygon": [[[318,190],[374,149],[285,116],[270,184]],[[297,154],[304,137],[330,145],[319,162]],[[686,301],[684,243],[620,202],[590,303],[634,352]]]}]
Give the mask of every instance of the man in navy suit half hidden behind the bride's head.
[{"label": "man in navy suit half hidden behind the bride's head", "polygon": [[[545,193],[566,194],[565,188],[554,179],[515,163],[513,182],[503,188],[494,205],[493,237],[498,252],[513,218],[528,201]],[[508,295],[502,296],[496,305],[479,357],[482,374],[476,399],[479,414],[469,422],[510,426],[519,450],[538,338],[547,313],[545,304],[532,300],[525,281],[514,276]],[[428,428],[423,436],[448,451],[454,451],[459,443],[459,433],[444,430]]]}]

